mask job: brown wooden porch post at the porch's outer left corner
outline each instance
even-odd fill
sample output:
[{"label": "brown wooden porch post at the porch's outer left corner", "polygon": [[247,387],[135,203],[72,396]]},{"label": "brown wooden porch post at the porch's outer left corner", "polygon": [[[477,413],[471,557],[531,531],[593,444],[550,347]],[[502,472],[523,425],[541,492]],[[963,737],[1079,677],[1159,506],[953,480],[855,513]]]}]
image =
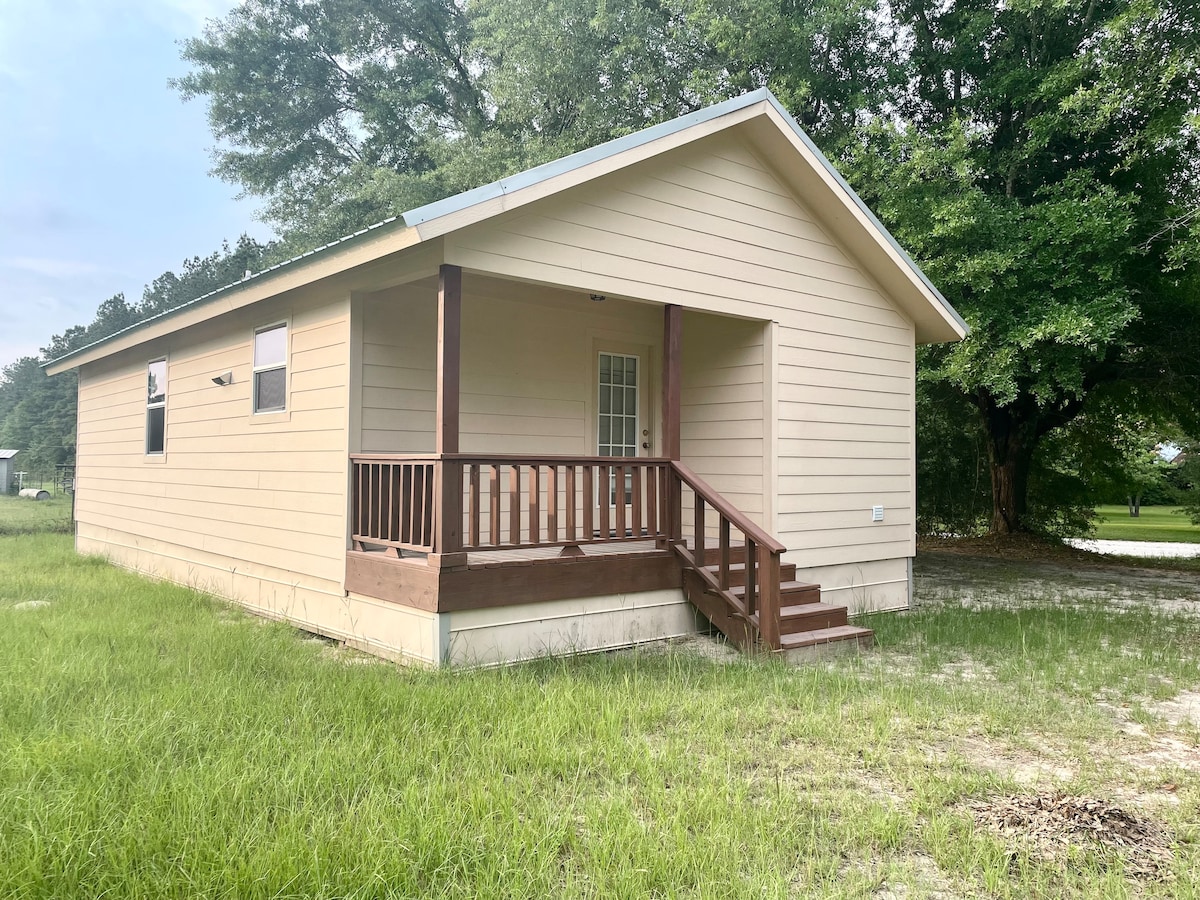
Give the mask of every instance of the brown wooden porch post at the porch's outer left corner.
[{"label": "brown wooden porch post at the porch's outer left corner", "polygon": [[[458,452],[458,385],[462,359],[462,269],[443,265],[438,270],[438,382],[434,450]],[[450,553],[462,552],[462,463],[439,458],[437,463],[437,533],[433,539],[432,563],[460,564],[449,560]]]}]

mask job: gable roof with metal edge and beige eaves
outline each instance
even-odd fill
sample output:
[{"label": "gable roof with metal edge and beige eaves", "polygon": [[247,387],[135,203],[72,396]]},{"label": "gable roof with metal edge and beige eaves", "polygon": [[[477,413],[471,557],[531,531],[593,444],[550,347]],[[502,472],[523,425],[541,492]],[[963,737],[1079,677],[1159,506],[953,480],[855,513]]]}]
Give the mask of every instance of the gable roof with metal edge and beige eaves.
[{"label": "gable roof with metal edge and beige eaves", "polygon": [[[49,374],[161,337],[212,316],[366,263],[432,242],[611,172],[727,128],[742,126],[779,163],[778,173],[822,211],[822,222],[850,246],[916,325],[922,343],[961,340],[967,325],[862,198],[766,88],[581,150],[490,185],[408,210],[360,232],[252,274],[46,364]],[[798,157],[798,158],[797,158]],[[799,164],[796,164],[796,163]],[[217,302],[224,300],[226,302]]]}]

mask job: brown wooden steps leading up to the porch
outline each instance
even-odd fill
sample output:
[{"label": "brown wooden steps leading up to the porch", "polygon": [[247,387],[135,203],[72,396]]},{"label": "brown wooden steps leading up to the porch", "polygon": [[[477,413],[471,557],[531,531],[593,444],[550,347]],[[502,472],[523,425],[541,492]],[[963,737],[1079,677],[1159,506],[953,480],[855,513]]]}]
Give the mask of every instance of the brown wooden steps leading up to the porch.
[{"label": "brown wooden steps leading up to the porch", "polygon": [[[690,551],[689,551],[690,556]],[[684,590],[688,599],[744,650],[760,647],[758,613],[745,616],[745,552],[742,546],[730,547],[727,571],[728,590],[721,590],[720,553],[706,548],[702,570],[684,562]],[[736,562],[734,562],[736,560]],[[779,566],[779,643],[773,650],[792,660],[820,656],[834,650],[857,650],[871,647],[874,632],[851,625],[845,606],[821,600],[821,587],[796,581],[796,565]]]}]

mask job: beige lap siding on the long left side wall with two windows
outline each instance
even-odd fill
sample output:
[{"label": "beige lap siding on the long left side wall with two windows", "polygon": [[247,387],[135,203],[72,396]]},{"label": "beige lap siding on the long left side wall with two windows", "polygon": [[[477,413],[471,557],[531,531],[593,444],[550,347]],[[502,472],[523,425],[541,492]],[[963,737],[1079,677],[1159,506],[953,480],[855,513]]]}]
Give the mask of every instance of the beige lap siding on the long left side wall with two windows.
[{"label": "beige lap siding on the long left side wall with two windows", "polygon": [[[256,418],[253,330],[284,318],[288,412]],[[107,542],[114,558],[175,580],[186,580],[191,560],[197,571],[226,565],[257,572],[263,583],[290,580],[337,593],[346,548],[348,342],[348,302],[310,296],[85,366],[76,511],[88,548]],[[162,355],[167,452],[148,457],[145,366]],[[227,371],[233,384],[212,383]],[[151,548],[160,545],[169,552],[152,565]]]}]

